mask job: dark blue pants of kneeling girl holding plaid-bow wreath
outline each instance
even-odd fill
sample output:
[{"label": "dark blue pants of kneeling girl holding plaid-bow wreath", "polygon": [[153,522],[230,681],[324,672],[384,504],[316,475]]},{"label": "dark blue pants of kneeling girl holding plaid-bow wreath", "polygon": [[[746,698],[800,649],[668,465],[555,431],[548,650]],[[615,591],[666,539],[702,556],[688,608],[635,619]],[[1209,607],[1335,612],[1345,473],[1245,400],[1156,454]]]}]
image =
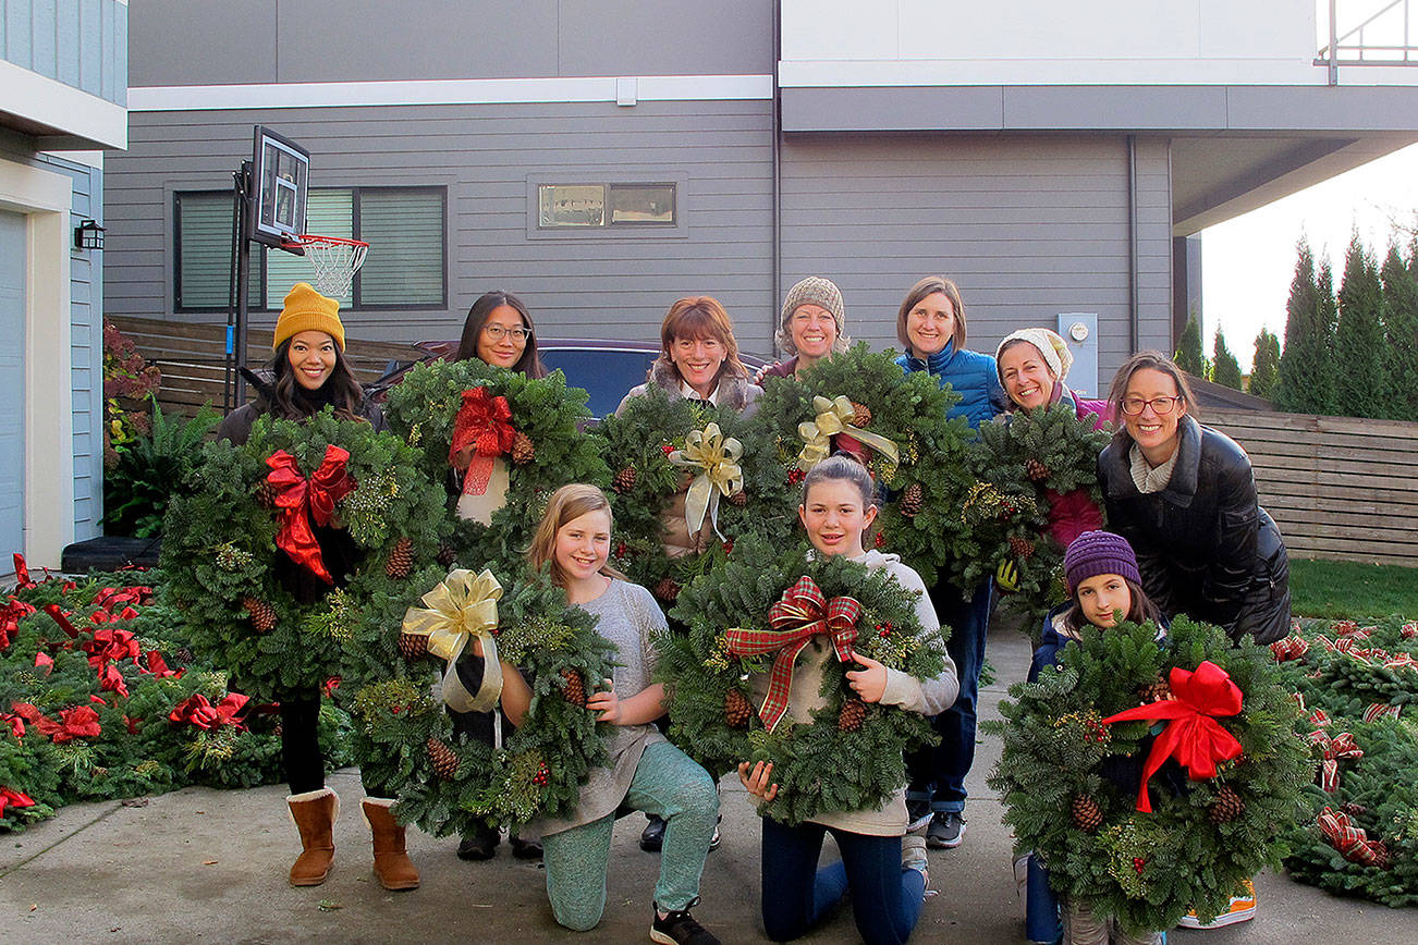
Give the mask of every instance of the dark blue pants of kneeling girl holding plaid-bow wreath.
[{"label": "dark blue pants of kneeling girl holding plaid-bow wreath", "polygon": [[[818,870],[828,829],[842,859]],[[763,928],[776,942],[805,935],[848,891],[856,931],[868,945],[902,945],[916,928],[926,883],[919,871],[900,868],[900,837],[820,823],[790,827],[764,817],[760,861]]]}]

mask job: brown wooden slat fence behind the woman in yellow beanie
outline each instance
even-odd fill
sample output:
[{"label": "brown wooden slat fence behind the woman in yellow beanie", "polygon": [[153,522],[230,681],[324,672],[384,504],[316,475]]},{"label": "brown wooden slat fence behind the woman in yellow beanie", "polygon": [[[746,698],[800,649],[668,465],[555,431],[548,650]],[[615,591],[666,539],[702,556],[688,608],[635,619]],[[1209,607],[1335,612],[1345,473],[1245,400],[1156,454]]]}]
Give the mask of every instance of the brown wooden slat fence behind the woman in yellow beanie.
[{"label": "brown wooden slat fence behind the woman in yellow beanie", "polygon": [[[149,364],[163,373],[157,402],[164,414],[191,417],[203,404],[221,409],[227,326],[111,316],[109,322],[132,339]],[[384,374],[390,361],[417,361],[423,353],[408,344],[346,339],[354,377],[369,384]],[[271,329],[247,330],[248,367],[269,358]],[[250,385],[247,390],[251,394]]]}]

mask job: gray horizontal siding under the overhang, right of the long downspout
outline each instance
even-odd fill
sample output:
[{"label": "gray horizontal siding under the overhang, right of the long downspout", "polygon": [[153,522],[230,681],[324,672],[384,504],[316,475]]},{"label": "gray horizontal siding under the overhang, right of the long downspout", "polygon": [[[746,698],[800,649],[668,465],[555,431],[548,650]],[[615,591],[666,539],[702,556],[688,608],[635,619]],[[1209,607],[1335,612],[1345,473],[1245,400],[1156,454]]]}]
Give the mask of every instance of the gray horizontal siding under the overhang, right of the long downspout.
[{"label": "gray horizontal siding under the overhang, right of the long downspout", "polygon": [[[1139,147],[1144,344],[1170,344],[1167,142]],[[923,275],[961,289],[968,344],[1096,312],[1106,377],[1129,354],[1127,152],[1120,136],[795,136],[783,150],[783,285],[825,275],[848,332],[898,346],[896,312]]]}]

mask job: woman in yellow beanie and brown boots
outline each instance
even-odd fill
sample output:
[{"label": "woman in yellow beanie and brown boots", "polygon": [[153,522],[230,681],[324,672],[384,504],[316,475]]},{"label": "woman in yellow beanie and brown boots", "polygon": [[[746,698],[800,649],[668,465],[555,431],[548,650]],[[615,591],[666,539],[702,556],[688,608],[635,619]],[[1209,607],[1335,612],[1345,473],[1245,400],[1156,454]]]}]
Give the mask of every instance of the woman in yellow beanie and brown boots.
[{"label": "woman in yellow beanie and brown boots", "polygon": [[[261,374],[241,368],[255,388],[255,400],[227,414],[217,428],[217,438],[240,446],[251,436],[251,425],[261,415],[302,421],[326,407],[336,417],[363,419],[376,431],[384,429],[384,415],[366,400],[364,390],[345,360],[345,326],[340,324],[340,305],[328,299],[309,283],[298,282],[285,296],[285,307],[275,323],[271,349],[275,356]],[[349,533],[333,526],[319,526],[315,537],[320,554],[335,578],[335,585],[346,581],[347,564],[356,550]],[[277,555],[277,578],[302,602],[318,601],[329,585],[309,571]],[[312,691],[281,703],[281,764],[291,786],[286,803],[291,819],[301,830],[301,856],[291,867],[292,885],[319,885],[329,873],[335,857],[332,829],[340,803],[325,786],[325,758],[316,728],[320,714],[320,693]],[[387,890],[411,890],[418,885],[418,870],[404,850],[404,827],[394,822],[387,791],[380,785],[364,785],[364,819],[374,833],[374,871]]]}]

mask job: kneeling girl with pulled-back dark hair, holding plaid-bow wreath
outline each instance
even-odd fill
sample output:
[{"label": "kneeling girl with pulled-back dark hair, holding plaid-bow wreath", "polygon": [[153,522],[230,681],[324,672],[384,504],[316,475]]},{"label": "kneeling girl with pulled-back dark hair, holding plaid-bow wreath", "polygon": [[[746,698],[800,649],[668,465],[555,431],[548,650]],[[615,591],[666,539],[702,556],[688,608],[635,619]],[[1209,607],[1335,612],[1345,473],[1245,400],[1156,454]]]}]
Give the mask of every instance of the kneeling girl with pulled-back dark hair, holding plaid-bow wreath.
[{"label": "kneeling girl with pulled-back dark hair, holding plaid-bow wreath", "polygon": [[[885,568],[900,585],[916,595],[916,616],[925,630],[939,629],[936,611],[926,587],[912,568],[895,554],[865,551],[862,533],[876,517],[875,483],[856,460],[832,456],[815,465],[803,482],[798,517],[807,528],[817,554],[842,554],[869,568]],[[822,667],[834,656],[832,643],[814,638],[798,659],[788,714],[794,721],[813,721],[813,713],[827,700],[821,696]],[[861,669],[847,673],[856,696],[865,703],[898,706],[908,711],[934,715],[954,701],[960,690],[956,666],[944,656],[944,669],[929,680],[915,679],[861,653],[854,656]],[[752,680],[754,697],[761,701],[769,687],[766,674]],[[773,782],[773,764],[739,765],[739,779],[752,795],[771,800],[778,793]],[[926,840],[903,836],[906,832],[906,785],[875,810],[837,810],[821,813],[798,826],[763,817],[763,925],[769,938],[790,941],[805,935],[844,895],[852,897],[852,912],[862,939],[905,942],[925,901]],[[817,868],[822,837],[831,832],[841,850],[838,863]]]}]

